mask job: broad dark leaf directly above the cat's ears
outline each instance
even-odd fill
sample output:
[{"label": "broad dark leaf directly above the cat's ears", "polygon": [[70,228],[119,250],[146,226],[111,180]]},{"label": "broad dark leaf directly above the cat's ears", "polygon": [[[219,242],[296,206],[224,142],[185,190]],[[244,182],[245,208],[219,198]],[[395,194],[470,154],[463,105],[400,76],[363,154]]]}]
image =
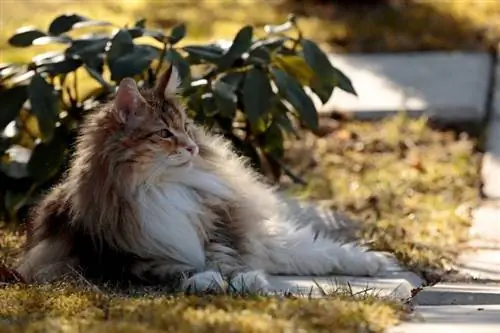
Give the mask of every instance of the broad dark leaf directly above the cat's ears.
[{"label": "broad dark leaf directly above the cat's ears", "polygon": [[125,77],[143,73],[158,57],[159,51],[150,45],[135,45],[118,58],[108,58],[111,80],[118,82]]}]

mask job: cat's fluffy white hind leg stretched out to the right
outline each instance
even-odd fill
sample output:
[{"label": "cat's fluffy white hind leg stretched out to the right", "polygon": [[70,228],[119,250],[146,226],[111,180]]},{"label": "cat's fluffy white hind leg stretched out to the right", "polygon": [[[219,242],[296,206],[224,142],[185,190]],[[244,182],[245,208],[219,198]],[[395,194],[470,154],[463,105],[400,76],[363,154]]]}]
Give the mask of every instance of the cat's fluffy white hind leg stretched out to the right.
[{"label": "cat's fluffy white hind leg stretched out to the right", "polygon": [[319,235],[311,226],[280,228],[279,232],[248,242],[245,260],[269,274],[376,275],[385,259],[354,243],[340,243]]}]

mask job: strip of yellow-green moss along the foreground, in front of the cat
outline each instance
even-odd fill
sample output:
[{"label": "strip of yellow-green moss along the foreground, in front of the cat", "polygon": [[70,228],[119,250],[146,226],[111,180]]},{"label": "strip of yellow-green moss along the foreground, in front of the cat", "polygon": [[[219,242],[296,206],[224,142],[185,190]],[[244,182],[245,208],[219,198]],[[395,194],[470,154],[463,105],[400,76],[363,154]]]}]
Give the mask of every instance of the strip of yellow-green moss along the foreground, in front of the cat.
[{"label": "strip of yellow-green moss along the foreground, in front of the cat", "polygon": [[400,311],[387,300],[343,295],[124,296],[71,284],[0,289],[2,332],[382,332]]}]

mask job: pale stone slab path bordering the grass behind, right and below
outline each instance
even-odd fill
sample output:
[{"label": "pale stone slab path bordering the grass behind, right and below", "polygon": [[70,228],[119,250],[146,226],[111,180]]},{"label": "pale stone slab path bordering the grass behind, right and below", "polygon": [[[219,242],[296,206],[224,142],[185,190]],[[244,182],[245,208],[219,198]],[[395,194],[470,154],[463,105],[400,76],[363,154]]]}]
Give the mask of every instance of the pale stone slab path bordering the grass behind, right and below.
[{"label": "pale stone slab path bordering the grass behind, right and below", "polygon": [[[406,110],[450,124],[484,126],[488,121],[481,167],[485,200],[474,212],[471,250],[459,260],[463,278],[424,288],[412,299],[413,318],[389,332],[500,332],[500,66],[494,68],[486,53],[348,54],[330,59],[348,73],[359,97],[336,90],[325,105],[316,101],[321,112],[376,119]],[[336,279],[341,286],[349,282],[354,292],[368,287],[401,298],[408,298],[411,289],[422,283],[398,267],[378,278]],[[318,278],[317,282],[331,286],[334,280]],[[272,283],[277,290],[305,294],[316,286],[307,277],[273,277]]]}]

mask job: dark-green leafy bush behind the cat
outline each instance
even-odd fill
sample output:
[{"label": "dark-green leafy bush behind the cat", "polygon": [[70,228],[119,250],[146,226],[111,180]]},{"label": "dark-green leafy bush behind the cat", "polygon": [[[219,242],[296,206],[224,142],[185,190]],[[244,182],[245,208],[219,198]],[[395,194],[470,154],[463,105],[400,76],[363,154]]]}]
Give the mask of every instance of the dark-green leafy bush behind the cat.
[{"label": "dark-green leafy bush behind the cat", "polygon": [[[284,135],[296,134],[297,126],[312,131],[318,126],[304,87],[323,102],[336,87],[355,94],[350,80],[303,38],[293,16],[267,26],[259,38],[244,26],[232,42],[182,47],[184,24],[165,34],[145,23],[118,28],[65,14],[48,31],[21,28],[9,39],[20,52],[46,44],[65,49],[37,55],[27,64],[0,65],[0,211],[5,220],[18,219],[62,175],[83,116],[108,100],[125,77],[150,87],[164,63],[176,65],[192,117],[223,133],[258,170],[266,165],[275,178],[288,172],[281,162]],[[90,79],[98,88],[83,93],[79,86]]]}]

